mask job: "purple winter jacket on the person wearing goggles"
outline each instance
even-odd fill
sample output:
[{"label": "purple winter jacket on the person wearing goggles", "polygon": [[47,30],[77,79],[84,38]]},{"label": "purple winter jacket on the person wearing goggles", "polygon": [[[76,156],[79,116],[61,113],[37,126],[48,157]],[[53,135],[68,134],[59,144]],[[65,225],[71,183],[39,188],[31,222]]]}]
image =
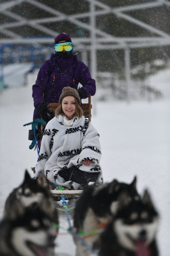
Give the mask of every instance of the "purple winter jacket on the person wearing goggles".
[{"label": "purple winter jacket on the person wearing goggles", "polygon": [[[78,60],[75,54],[61,58],[52,53],[51,58],[40,68],[32,87],[34,107],[36,108],[39,103],[58,102],[63,87],[71,86],[78,89],[79,83],[83,86],[85,95],[83,98],[87,98],[90,94],[95,95],[95,80],[91,78],[88,67]],[[39,117],[34,110],[33,120]]]}]

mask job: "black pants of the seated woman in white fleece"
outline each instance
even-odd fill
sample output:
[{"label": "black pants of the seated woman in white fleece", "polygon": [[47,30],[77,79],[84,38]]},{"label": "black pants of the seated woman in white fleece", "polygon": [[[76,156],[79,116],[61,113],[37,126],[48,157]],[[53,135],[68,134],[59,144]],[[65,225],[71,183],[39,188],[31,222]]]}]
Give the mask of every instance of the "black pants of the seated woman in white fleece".
[{"label": "black pants of the seated woman in white fleece", "polygon": [[99,172],[84,172],[77,167],[72,166],[69,169],[62,169],[58,174],[63,177],[65,181],[74,181],[81,185],[86,185],[89,181],[97,182]]}]

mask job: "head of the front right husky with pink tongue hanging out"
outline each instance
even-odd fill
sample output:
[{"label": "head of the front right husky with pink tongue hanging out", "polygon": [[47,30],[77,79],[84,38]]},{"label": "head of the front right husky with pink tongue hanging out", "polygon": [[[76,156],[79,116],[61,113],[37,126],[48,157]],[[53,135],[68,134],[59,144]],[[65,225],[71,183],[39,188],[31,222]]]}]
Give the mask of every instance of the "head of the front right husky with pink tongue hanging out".
[{"label": "head of the front right husky with pink tongue hanging out", "polygon": [[145,190],[142,199],[137,201],[129,201],[126,195],[122,195],[119,200],[112,224],[119,243],[131,251],[146,251],[155,239],[158,227],[158,213],[148,191]]}]

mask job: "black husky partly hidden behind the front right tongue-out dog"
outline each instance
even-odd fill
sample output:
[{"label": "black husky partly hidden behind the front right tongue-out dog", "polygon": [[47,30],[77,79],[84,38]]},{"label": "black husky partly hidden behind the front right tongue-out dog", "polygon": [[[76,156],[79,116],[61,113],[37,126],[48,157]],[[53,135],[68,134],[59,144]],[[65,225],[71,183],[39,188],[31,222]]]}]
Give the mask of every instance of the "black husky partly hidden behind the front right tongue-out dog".
[{"label": "black husky partly hidden behind the front right tongue-out dog", "polygon": [[[136,177],[131,184],[113,180],[110,183],[87,187],[77,199],[74,210],[74,230],[79,233],[92,232],[101,225],[106,225],[116,213],[118,200],[122,194],[128,196],[128,200],[139,199],[136,190]],[[99,235],[87,236],[85,242],[92,248],[98,247]],[[78,239],[74,239],[76,256],[88,256],[89,250],[82,246]]]}]

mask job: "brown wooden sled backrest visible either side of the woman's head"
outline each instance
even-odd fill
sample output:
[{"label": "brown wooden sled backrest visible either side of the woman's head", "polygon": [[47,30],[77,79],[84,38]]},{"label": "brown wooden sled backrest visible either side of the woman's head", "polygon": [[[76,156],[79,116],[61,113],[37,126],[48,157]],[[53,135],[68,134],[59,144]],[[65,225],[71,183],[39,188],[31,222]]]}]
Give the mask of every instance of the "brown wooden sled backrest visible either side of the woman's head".
[{"label": "brown wooden sled backrest visible either side of the woman's head", "polygon": [[[58,108],[59,103],[49,103],[47,105],[47,108],[52,110],[53,112],[55,112],[56,108]],[[89,121],[91,121],[91,109],[92,109],[92,105],[91,105],[91,95],[88,97],[88,103],[82,103],[81,108],[83,110],[83,115],[85,117],[88,117]]]}]

